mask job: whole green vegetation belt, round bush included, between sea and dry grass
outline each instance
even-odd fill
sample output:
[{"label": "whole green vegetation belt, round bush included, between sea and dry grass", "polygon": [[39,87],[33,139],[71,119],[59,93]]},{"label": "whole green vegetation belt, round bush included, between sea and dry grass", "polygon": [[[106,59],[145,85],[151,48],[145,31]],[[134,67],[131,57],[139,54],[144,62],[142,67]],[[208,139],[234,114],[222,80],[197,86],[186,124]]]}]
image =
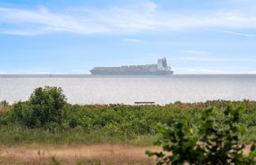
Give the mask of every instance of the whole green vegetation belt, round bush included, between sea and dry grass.
[{"label": "whole green vegetation belt, round bush included, between sea and dry grass", "polygon": [[99,142],[150,145],[157,125],[186,119],[198,133],[201,112],[215,107],[216,124],[225,127],[224,110],[231,103],[245,112],[239,125],[256,139],[256,101],[175,102],[169,105],[70,105],[58,87],[36,89],[28,101],[0,104],[0,143],[92,144]]}]

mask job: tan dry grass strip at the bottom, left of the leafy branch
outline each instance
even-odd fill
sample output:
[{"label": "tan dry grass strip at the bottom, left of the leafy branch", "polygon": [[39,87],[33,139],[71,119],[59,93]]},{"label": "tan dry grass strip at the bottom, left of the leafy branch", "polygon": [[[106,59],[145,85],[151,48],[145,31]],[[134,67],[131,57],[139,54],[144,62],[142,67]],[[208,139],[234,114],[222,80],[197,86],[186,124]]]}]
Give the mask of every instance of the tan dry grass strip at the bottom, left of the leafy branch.
[{"label": "tan dry grass strip at the bottom, left of the leafy branch", "polygon": [[153,164],[154,158],[145,155],[145,150],[159,151],[160,148],[134,145],[24,145],[1,146],[2,164],[42,164],[49,163],[52,156],[64,164]]}]

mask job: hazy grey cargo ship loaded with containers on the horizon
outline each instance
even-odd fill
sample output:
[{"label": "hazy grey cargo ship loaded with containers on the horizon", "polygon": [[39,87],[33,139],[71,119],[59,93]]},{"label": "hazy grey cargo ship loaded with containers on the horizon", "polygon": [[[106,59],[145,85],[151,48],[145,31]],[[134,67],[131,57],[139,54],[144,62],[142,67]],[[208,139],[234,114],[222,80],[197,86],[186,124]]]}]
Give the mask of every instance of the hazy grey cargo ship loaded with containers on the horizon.
[{"label": "hazy grey cargo ship loaded with containers on the horizon", "polygon": [[124,65],[121,67],[95,67],[92,75],[172,75],[166,58],[158,59],[157,64]]}]

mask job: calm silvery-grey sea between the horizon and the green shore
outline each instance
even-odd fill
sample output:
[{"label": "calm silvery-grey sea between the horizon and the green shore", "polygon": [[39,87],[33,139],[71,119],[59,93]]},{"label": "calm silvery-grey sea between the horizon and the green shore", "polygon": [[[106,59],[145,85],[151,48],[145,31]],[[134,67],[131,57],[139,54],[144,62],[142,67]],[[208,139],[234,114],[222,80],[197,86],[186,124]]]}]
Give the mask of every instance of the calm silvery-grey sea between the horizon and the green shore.
[{"label": "calm silvery-grey sea between the horizon and the green shore", "polygon": [[0,75],[0,101],[28,100],[39,86],[60,86],[73,104],[256,100],[256,75]]}]

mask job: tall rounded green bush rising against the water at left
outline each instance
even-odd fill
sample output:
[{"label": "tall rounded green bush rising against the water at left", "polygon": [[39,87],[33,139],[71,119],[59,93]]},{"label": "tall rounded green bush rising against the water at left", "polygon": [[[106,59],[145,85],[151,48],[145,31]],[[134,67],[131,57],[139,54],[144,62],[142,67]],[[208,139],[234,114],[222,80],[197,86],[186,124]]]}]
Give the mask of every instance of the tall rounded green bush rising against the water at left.
[{"label": "tall rounded green bush rising against the water at left", "polygon": [[13,117],[26,127],[52,127],[60,125],[65,115],[66,96],[62,88],[39,87],[28,101],[13,105]]}]

